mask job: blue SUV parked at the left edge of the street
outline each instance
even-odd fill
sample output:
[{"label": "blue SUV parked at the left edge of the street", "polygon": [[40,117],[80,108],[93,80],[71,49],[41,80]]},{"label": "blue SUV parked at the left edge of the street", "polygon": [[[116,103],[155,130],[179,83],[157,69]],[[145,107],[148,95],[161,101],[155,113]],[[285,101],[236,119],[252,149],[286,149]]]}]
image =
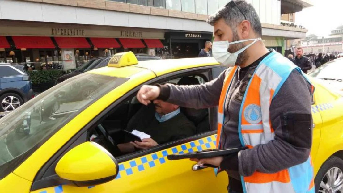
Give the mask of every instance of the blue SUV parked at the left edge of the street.
[{"label": "blue SUV parked at the left edge of the street", "polygon": [[0,112],[12,111],[34,96],[24,65],[0,64]]}]

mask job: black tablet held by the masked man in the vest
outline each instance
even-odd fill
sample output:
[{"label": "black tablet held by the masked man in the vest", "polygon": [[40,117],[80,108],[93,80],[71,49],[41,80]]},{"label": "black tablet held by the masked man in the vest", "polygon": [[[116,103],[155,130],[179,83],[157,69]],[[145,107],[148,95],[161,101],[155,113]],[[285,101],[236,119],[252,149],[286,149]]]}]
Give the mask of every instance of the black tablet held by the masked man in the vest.
[{"label": "black tablet held by the masked man in the vest", "polygon": [[209,150],[202,150],[198,152],[191,152],[185,154],[172,154],[168,155],[167,158],[169,160],[176,160],[176,159],[204,159],[204,158],[211,158],[211,157],[218,157],[218,156],[226,156],[229,154],[237,153],[240,150],[247,149],[247,147],[239,147],[239,148],[230,148],[230,149],[209,149]]}]

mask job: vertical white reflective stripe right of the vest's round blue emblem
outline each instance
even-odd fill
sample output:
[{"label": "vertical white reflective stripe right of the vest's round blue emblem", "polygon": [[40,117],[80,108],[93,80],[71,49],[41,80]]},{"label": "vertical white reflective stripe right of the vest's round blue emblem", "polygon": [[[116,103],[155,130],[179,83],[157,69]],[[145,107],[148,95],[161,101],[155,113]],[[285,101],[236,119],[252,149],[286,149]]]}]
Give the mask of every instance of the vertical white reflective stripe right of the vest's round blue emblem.
[{"label": "vertical white reflective stripe right of the vest's round blue emblem", "polygon": [[271,136],[271,129],[269,124],[269,106],[270,106],[270,88],[267,86],[265,81],[261,82],[260,85],[260,104],[261,104],[261,116],[262,116],[262,124],[263,124],[263,133],[265,138],[265,143],[268,143],[272,140]]}]

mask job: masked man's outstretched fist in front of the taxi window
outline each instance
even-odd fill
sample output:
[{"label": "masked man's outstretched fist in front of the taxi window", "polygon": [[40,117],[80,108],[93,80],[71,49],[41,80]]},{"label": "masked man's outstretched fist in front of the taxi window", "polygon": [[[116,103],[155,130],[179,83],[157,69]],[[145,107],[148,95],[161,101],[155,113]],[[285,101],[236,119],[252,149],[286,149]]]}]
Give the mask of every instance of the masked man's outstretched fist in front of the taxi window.
[{"label": "masked man's outstretched fist in front of the taxi window", "polygon": [[151,100],[159,96],[161,89],[158,86],[143,85],[137,93],[137,99],[144,105],[150,104]]}]

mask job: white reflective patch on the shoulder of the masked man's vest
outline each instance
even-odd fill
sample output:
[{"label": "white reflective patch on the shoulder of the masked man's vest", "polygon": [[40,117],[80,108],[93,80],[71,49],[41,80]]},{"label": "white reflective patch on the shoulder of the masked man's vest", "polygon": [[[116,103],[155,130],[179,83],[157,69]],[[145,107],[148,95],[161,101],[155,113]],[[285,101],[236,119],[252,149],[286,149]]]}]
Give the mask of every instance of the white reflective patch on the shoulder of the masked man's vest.
[{"label": "white reflective patch on the shoulder of the masked man's vest", "polygon": [[256,70],[256,75],[258,75],[262,79],[262,81],[267,82],[268,86],[274,91],[282,81],[282,77],[279,76],[279,74],[276,74],[265,64],[260,64],[260,66]]}]

